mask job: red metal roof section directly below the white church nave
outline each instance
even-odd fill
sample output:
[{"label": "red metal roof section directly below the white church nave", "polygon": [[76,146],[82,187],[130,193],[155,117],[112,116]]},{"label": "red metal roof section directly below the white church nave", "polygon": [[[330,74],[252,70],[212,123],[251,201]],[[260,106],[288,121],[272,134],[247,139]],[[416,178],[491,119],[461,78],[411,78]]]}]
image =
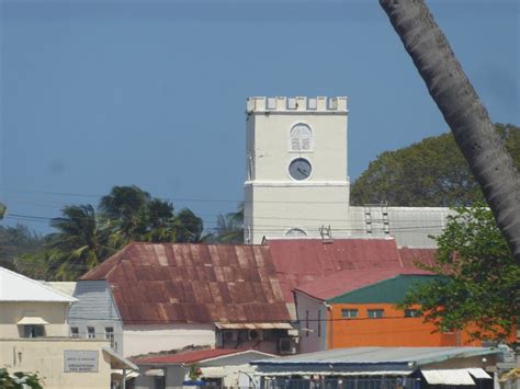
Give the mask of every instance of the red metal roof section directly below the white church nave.
[{"label": "red metal roof section directly below the white church nave", "polygon": [[330,274],[404,267],[394,239],[270,239],[268,247],[287,302],[293,302],[294,288]]}]

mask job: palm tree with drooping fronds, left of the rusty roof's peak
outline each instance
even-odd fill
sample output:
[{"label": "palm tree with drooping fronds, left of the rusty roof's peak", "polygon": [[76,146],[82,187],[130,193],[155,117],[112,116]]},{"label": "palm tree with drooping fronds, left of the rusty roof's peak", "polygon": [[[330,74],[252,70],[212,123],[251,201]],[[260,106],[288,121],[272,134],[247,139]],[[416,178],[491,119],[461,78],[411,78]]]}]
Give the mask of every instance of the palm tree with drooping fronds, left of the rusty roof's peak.
[{"label": "palm tree with drooping fronds, left of the rusty roof's peak", "polygon": [[48,260],[58,279],[76,279],[106,259],[113,250],[106,247],[106,234],[99,228],[91,205],[68,205],[63,217],[50,226],[58,232],[48,237]]}]

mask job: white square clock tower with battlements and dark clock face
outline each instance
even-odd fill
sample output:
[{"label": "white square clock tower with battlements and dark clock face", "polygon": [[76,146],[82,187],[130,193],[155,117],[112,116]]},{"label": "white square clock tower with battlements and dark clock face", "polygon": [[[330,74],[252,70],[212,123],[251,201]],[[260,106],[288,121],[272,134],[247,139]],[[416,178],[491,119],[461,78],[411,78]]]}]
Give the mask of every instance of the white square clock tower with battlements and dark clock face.
[{"label": "white square clock tower with battlements and dark clock face", "polygon": [[348,229],[347,98],[249,98],[245,242]]}]

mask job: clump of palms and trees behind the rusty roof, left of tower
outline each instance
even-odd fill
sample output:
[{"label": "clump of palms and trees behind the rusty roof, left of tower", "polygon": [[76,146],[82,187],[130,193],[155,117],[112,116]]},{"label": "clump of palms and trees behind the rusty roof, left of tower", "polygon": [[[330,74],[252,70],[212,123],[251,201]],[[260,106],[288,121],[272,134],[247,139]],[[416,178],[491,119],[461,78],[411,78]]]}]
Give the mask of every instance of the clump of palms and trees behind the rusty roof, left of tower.
[{"label": "clump of palms and trees behind the rusty roof, left of tower", "polygon": [[[50,221],[57,232],[37,240],[39,250],[24,250],[15,256],[11,267],[39,279],[71,281],[103,262],[133,241],[190,242],[203,240],[203,221],[190,209],[178,215],[167,201],[151,197],[137,186],[114,186],[103,196],[95,213],[91,205],[69,205],[63,216]],[[0,262],[3,239],[15,242],[16,233],[25,240],[29,230],[4,229],[0,226]],[[34,238],[36,239],[36,238]],[[25,243],[27,247],[29,243]],[[9,256],[11,259],[11,256]]]}]

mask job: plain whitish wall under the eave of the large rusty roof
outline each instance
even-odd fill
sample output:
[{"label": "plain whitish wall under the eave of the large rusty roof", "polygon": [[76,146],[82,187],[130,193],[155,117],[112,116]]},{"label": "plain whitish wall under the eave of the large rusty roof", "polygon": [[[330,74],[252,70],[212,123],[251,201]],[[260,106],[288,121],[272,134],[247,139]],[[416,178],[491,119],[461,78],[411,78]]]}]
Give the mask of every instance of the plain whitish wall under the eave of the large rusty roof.
[{"label": "plain whitish wall under the eave of the large rusty roof", "polygon": [[179,350],[188,345],[215,346],[213,324],[125,325],[124,356]]}]

